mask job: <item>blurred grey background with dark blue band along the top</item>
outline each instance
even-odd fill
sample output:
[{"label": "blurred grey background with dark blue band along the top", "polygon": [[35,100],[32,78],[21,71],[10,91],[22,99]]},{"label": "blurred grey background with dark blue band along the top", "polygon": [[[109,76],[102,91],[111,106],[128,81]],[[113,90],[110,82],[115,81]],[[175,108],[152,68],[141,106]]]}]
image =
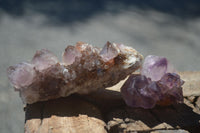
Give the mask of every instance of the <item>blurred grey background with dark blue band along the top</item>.
[{"label": "blurred grey background with dark blue band along the top", "polygon": [[[167,57],[178,71],[200,70],[198,0],[0,0],[0,132],[22,133],[23,104],[6,68],[47,48],[59,58],[77,41],[134,47]],[[61,58],[60,58],[61,59]]]}]

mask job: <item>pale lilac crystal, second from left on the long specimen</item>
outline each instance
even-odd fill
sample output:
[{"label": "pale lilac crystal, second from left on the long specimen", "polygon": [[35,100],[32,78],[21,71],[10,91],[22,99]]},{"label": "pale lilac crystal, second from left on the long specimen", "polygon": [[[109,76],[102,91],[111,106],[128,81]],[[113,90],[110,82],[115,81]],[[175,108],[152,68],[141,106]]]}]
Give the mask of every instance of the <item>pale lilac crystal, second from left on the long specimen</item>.
[{"label": "pale lilac crystal, second from left on the long specimen", "polygon": [[31,63],[35,66],[37,70],[42,71],[52,65],[57,64],[58,59],[52,52],[46,49],[42,49],[36,52]]}]

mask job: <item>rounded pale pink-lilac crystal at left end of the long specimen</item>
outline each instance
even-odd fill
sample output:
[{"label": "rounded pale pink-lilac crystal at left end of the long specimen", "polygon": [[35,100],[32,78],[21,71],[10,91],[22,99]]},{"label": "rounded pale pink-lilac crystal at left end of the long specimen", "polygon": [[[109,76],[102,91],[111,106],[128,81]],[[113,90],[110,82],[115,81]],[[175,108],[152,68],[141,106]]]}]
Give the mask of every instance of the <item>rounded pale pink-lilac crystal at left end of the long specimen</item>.
[{"label": "rounded pale pink-lilac crystal at left end of the long specimen", "polygon": [[18,90],[21,87],[32,84],[36,76],[36,72],[33,67],[34,66],[32,64],[22,62],[7,69],[8,78],[15,89]]}]

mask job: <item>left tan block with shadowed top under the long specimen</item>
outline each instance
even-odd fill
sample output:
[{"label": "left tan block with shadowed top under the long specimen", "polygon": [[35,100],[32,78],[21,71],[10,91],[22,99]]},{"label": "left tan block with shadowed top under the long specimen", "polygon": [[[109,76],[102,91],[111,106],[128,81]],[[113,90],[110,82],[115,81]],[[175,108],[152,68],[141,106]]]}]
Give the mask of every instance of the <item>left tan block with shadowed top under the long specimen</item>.
[{"label": "left tan block with shadowed top under the long specimen", "polygon": [[25,133],[106,133],[101,112],[76,96],[26,107]]}]

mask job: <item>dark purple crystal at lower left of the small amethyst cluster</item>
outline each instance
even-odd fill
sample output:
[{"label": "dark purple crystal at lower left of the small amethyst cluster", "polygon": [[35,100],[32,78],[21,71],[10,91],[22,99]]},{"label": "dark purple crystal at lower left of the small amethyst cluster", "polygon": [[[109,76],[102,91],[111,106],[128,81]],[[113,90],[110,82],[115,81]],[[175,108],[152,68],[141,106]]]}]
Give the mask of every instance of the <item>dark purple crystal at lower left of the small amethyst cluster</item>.
[{"label": "dark purple crystal at lower left of the small amethyst cluster", "polygon": [[121,92],[128,106],[152,108],[158,97],[151,87],[155,87],[156,90],[156,86],[146,76],[131,75],[121,88]]}]

